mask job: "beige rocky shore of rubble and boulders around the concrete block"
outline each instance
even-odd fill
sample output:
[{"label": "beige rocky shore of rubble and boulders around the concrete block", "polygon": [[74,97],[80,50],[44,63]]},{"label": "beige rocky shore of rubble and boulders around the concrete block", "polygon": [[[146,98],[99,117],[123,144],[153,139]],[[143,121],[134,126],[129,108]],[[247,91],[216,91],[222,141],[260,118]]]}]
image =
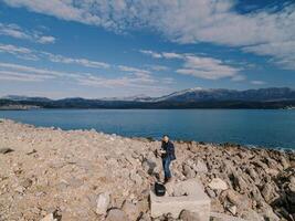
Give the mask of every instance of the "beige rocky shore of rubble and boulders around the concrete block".
[{"label": "beige rocky shore of rubble and boulders around the concrete block", "polygon": [[[295,154],[176,141],[173,181],[198,179],[212,214],[295,220]],[[0,221],[150,221],[160,141],[0,120]],[[211,220],[226,220],[213,218]],[[154,219],[173,220],[169,214]],[[198,220],[183,211],[178,220]]]}]

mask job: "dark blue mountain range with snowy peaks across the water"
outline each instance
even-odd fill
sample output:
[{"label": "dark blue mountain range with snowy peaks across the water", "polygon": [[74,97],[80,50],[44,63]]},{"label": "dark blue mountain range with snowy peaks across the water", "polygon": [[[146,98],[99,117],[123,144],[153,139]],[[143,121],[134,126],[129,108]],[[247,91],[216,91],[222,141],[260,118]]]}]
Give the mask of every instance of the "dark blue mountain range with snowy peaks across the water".
[{"label": "dark blue mountain range with snowy peaks across the water", "polygon": [[270,87],[236,91],[197,87],[160,97],[139,95],[97,99],[8,95],[0,98],[1,105],[34,105],[43,108],[285,108],[295,106],[295,90]]}]

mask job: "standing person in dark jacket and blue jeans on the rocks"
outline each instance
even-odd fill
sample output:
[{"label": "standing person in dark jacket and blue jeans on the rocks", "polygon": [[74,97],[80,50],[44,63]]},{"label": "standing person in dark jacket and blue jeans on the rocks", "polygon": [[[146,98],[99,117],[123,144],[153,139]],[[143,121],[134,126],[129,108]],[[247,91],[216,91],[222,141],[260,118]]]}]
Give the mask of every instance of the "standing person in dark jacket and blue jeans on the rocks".
[{"label": "standing person in dark jacket and blue jeans on the rocks", "polygon": [[162,159],[162,168],[165,173],[165,183],[171,180],[171,171],[170,171],[170,164],[172,160],[176,159],[175,155],[175,145],[169,140],[168,135],[162,136],[161,141],[161,159]]}]

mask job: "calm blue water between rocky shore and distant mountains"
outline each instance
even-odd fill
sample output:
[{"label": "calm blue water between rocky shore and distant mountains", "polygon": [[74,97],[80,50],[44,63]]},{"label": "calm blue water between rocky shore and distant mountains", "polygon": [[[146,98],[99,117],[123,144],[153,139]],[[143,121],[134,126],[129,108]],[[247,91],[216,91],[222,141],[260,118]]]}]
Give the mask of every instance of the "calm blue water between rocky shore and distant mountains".
[{"label": "calm blue water between rocky shore and distant mountains", "polygon": [[63,129],[124,136],[238,143],[295,149],[295,110],[259,109],[36,109],[2,110],[1,118]]}]

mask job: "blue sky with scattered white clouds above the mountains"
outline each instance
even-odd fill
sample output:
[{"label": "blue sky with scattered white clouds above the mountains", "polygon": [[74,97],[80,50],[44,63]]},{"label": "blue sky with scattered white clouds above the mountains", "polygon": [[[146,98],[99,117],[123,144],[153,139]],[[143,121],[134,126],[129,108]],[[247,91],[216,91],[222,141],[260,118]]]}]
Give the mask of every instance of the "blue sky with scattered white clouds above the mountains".
[{"label": "blue sky with scattered white clouds above the mountains", "polygon": [[295,87],[295,0],[0,0],[0,96]]}]

